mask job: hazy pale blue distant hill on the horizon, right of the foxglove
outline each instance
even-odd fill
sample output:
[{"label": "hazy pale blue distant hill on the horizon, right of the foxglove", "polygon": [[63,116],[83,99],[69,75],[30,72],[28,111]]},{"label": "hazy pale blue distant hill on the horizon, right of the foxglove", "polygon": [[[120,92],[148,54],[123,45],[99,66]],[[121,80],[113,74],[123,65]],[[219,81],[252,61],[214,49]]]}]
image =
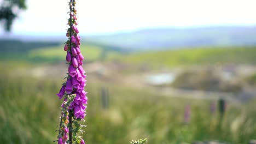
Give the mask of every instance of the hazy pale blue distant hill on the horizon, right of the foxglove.
[{"label": "hazy pale blue distant hill on the horizon, right of the foxglove", "polygon": [[256,27],[152,28],[86,37],[91,43],[123,50],[172,49],[197,46],[253,46]]}]

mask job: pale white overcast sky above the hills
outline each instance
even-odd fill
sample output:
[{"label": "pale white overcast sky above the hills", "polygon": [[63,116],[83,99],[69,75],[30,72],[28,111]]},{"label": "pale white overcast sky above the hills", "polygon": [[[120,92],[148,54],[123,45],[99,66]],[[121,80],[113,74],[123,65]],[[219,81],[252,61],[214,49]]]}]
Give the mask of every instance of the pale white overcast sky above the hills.
[{"label": "pale white overcast sky above the hills", "polygon": [[[256,26],[255,0],[77,0],[82,34],[148,27]],[[68,0],[27,0],[14,34],[66,33]],[[1,31],[3,32],[3,31]]]}]

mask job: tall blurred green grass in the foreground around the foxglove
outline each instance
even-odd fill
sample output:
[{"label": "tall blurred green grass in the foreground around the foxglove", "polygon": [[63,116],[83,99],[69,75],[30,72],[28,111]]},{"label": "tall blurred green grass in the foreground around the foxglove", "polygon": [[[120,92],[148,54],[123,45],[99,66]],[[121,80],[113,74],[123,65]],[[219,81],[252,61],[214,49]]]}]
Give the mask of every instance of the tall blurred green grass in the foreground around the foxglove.
[{"label": "tall blurred green grass in the foreground around the foxglove", "polygon": [[[55,95],[62,77],[15,76],[2,69],[0,76],[1,143],[53,143],[56,140],[61,101]],[[109,89],[109,109],[101,106],[100,87]],[[210,101],[163,97],[145,89],[88,80],[88,109],[83,134],[86,143],[129,143],[147,137],[148,143],[191,143],[219,140],[248,143],[255,139],[255,101],[229,103],[222,124],[209,112]],[[185,105],[191,121],[183,124]]]}]

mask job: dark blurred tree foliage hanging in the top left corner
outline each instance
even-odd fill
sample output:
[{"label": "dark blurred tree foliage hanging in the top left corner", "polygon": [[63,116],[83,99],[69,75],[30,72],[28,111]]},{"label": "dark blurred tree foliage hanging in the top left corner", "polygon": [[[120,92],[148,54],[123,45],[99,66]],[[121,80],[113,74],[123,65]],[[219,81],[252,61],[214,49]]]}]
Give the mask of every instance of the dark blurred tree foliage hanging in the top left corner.
[{"label": "dark blurred tree foliage hanging in the top left corner", "polygon": [[10,31],[11,25],[18,16],[19,11],[26,8],[25,0],[3,0],[1,2],[0,22],[4,23],[5,31]]}]

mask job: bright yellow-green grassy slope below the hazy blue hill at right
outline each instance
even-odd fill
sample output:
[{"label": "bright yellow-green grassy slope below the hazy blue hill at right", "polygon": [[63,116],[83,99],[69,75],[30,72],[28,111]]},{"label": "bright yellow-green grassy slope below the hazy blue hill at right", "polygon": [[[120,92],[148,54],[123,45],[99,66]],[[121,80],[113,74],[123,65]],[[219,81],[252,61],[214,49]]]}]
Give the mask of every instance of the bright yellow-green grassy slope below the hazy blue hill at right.
[{"label": "bright yellow-green grassy slope below the hazy blue hill at right", "polygon": [[115,55],[108,60],[133,64],[148,64],[152,67],[175,67],[179,65],[207,64],[254,64],[256,47],[199,47],[191,49],[161,50]]}]

